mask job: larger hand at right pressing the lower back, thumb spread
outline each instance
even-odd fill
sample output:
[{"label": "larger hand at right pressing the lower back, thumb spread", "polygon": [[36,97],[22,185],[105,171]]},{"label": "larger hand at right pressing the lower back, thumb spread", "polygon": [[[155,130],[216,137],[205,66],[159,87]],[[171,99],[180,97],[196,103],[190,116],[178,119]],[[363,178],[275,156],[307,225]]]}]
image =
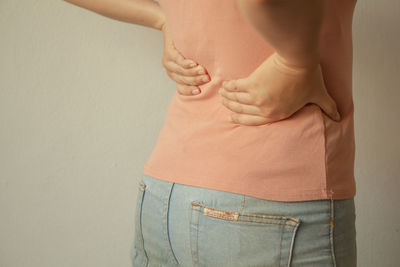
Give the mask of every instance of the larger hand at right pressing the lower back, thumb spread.
[{"label": "larger hand at right pressing the lower back, thumb spread", "polygon": [[328,94],[321,66],[290,66],[277,54],[268,57],[248,77],[224,81],[221,103],[236,114],[233,123],[262,125],[290,117],[307,103],[315,103],[333,120],[340,114]]}]

